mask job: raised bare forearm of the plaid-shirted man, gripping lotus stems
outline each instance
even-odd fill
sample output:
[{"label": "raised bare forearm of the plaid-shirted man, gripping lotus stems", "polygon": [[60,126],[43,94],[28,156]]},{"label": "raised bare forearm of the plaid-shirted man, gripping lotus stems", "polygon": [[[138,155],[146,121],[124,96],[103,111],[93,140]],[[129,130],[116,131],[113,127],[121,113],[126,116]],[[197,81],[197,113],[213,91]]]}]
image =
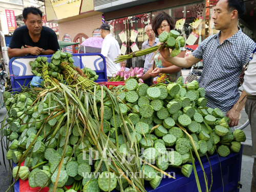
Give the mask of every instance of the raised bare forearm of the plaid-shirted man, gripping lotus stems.
[{"label": "raised bare forearm of the plaid-shirted man, gripping lotus stems", "polygon": [[[201,58],[196,58],[193,55],[189,55],[186,58],[172,57],[172,56],[170,56],[169,49],[167,49],[167,48],[161,49],[160,53],[165,61],[170,62],[173,65],[180,67],[180,68],[189,68],[202,60]],[[166,68],[166,70],[167,69],[168,68]]]}]

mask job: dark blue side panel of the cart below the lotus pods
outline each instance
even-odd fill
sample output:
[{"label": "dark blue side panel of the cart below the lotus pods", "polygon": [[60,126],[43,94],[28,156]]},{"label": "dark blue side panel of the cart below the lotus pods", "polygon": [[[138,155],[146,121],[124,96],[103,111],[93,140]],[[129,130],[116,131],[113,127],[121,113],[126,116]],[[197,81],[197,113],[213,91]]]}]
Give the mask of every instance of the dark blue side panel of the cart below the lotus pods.
[{"label": "dark blue side panel of the cart below the lotus pods", "polygon": [[[240,175],[241,175],[241,165],[242,165],[242,153],[243,146],[239,153],[231,152],[227,157],[218,157],[217,153],[210,156],[210,165],[212,170],[212,192],[239,192],[240,189]],[[208,187],[211,185],[211,170],[208,159],[206,156],[201,158],[205,173],[208,179]],[[200,185],[202,191],[205,191],[205,181],[203,177],[203,170],[198,161],[195,162],[197,168],[197,174],[199,177]],[[197,183],[195,179],[194,171],[189,178],[185,177],[179,168],[170,168],[165,172],[169,173],[172,176],[175,176],[176,179],[163,178],[161,184],[153,189],[148,181],[145,181],[145,189],[148,192],[197,192]],[[175,175],[173,174],[175,173]],[[223,180],[223,184],[222,184]],[[224,185],[224,188],[223,188]],[[14,185],[15,192],[27,192],[20,190],[21,187],[19,181]],[[117,190],[114,190],[117,192]]]}]

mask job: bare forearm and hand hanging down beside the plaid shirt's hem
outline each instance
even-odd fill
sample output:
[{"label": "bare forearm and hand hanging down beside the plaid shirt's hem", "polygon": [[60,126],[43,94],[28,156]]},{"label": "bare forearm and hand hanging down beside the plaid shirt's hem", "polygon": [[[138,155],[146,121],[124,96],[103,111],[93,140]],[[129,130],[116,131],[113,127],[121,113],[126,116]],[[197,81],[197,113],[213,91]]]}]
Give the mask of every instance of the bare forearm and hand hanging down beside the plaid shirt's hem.
[{"label": "bare forearm and hand hanging down beside the plaid shirt's hem", "polygon": [[[245,91],[242,92],[240,98],[238,99],[237,103],[234,104],[231,110],[227,112],[227,117],[230,119],[228,123],[229,126],[237,126],[239,122],[240,112],[244,108],[244,104],[246,99],[244,98],[247,95]],[[240,103],[241,102],[241,103]]]}]

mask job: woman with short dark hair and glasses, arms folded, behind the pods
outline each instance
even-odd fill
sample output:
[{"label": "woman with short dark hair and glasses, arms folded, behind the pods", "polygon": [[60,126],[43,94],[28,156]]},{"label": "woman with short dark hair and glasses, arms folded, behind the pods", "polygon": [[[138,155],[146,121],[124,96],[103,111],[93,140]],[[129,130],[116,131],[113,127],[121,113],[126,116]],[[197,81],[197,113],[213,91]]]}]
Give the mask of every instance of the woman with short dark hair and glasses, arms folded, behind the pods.
[{"label": "woman with short dark hair and glasses, arms folded, behind the pods", "polygon": [[[172,17],[162,11],[153,18],[152,28],[156,36],[159,36],[163,31],[169,33],[170,30],[174,29],[175,23]],[[182,57],[182,55],[184,54],[179,54],[178,57]],[[154,62],[151,69],[142,76],[143,80],[153,77],[153,84],[156,84],[166,78],[168,78],[169,81],[175,82],[180,77],[181,68],[164,61],[160,52],[157,52],[153,59]],[[166,69],[167,67],[168,69]],[[163,83],[167,82],[165,81]]]}]

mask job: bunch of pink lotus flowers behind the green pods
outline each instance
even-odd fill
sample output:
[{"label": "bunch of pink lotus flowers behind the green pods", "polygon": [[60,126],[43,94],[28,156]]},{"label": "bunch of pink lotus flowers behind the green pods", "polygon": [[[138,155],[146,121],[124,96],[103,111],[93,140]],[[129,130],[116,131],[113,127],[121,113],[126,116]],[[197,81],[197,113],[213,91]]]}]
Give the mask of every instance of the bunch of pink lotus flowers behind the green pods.
[{"label": "bunch of pink lotus flowers behind the green pods", "polygon": [[143,76],[143,68],[130,68],[129,71],[125,71],[125,67],[121,67],[121,69],[117,72],[114,73],[112,78],[109,81],[126,81],[130,78],[137,79],[139,82],[143,83],[143,80],[141,77]]}]

